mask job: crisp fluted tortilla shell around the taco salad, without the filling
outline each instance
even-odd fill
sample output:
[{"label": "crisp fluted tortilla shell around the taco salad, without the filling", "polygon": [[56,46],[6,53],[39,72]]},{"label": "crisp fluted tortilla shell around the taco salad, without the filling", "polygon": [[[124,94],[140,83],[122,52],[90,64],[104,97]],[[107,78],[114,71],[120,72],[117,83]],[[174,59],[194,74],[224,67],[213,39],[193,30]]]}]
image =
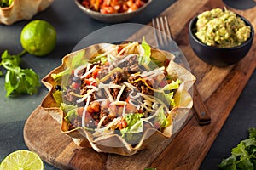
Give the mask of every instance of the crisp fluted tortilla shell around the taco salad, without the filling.
[{"label": "crisp fluted tortilla shell around the taco salad, without the filling", "polygon": [[[133,44],[134,47],[130,48],[130,46],[133,46],[131,44]],[[173,62],[173,59],[175,58],[173,54],[170,54],[166,51],[161,51],[156,48],[150,48],[151,59],[153,60],[157,59],[159,63],[165,63],[166,60],[168,60],[168,64],[165,66],[167,75],[172,76],[172,78],[176,80],[179,79],[181,81],[178,88],[175,90],[175,94],[173,95],[173,100],[175,101],[176,105],[172,106],[172,109],[170,109],[170,111],[169,110],[165,111],[165,114],[164,114],[165,115],[164,119],[166,120],[165,127],[160,127],[160,128],[157,128],[155,126],[149,126],[147,128],[143,127],[143,131],[132,133],[132,138],[137,137],[137,139],[134,142],[131,142],[131,140],[127,140],[127,138],[125,138],[124,135],[120,134],[120,132],[122,131],[121,128],[120,130],[119,129],[112,130],[113,126],[115,127],[118,126],[117,122],[114,122],[114,120],[116,119],[119,119],[119,121],[124,120],[124,119],[121,119],[120,117],[115,117],[112,120],[112,122],[108,122],[105,125],[105,128],[102,127],[102,124],[101,124],[102,121],[97,122],[98,124],[96,127],[94,127],[93,130],[84,126],[82,127],[77,126],[77,127],[71,128],[71,125],[70,125],[71,122],[67,121],[67,113],[65,113],[60,108],[60,103],[56,101],[57,99],[55,98],[55,92],[58,91],[56,89],[56,86],[60,85],[61,83],[62,87],[66,87],[66,85],[70,83],[70,77],[69,78],[62,77],[60,82],[60,81],[56,81],[53,75],[58,75],[59,73],[63,73],[64,71],[67,71],[68,68],[72,67],[74,63],[73,60],[75,60],[76,58],[81,57],[81,59],[79,59],[80,61],[89,60],[89,59],[91,60],[91,59],[96,59],[96,57],[100,56],[100,54],[106,54],[106,53],[111,54],[111,56],[118,56],[118,54],[120,54],[119,52],[120,48],[124,49],[123,52],[121,52],[122,56],[123,55],[128,56],[129,54],[143,55],[143,52],[142,52],[143,50],[138,47],[142,47],[142,45],[138,42],[119,44],[119,45],[114,45],[109,43],[100,43],[100,44],[92,45],[88,48],[84,48],[79,51],[75,51],[71,54],[67,54],[62,59],[62,64],[59,67],[55,68],[55,70],[49,72],[49,74],[43,78],[42,82],[44,83],[46,88],[49,89],[49,94],[45,96],[41,106],[44,108],[45,111],[48,111],[49,114],[57,122],[60,123],[61,133],[64,133],[67,136],[71,137],[75,144],[78,144],[79,146],[82,146],[82,147],[92,147],[97,152],[113,153],[121,156],[131,156],[136,154],[138,150],[150,149],[153,146],[159,145],[162,142],[166,141],[166,139],[170,139],[173,133],[177,133],[177,130],[175,132],[173,131],[173,126],[181,127],[181,124],[183,123],[183,121],[181,120],[185,119],[188,116],[189,110],[192,108],[192,105],[193,105],[192,98],[189,94],[189,88],[191,88],[193,83],[195,82],[195,77],[189,71],[184,69],[182,66],[177,65],[176,63]],[[139,55],[137,55],[137,57],[138,56]],[[77,68],[79,68],[79,66],[77,66]],[[104,79],[104,77],[102,79]],[[65,86],[63,86],[63,84],[65,84]],[[84,96],[80,96],[80,97],[84,97]],[[87,99],[87,101],[88,103],[89,102],[92,103],[90,99]],[[113,103],[114,102],[115,101],[113,101]],[[121,102],[124,102],[124,101],[121,101]],[[88,109],[89,107],[88,104],[84,104],[84,105],[85,105],[84,108]],[[125,105],[124,105],[124,108],[125,108]],[[160,109],[157,108],[157,110],[160,110]],[[88,110],[84,109],[83,112],[86,112],[86,111],[88,112]],[[125,111],[125,109],[123,111]],[[162,111],[164,111],[164,109],[162,109]],[[136,114],[139,114],[139,113],[136,113]],[[133,114],[133,115],[136,115],[136,114]],[[126,114],[123,112],[123,116],[124,115],[127,116],[129,114]],[[150,117],[150,115],[148,117]],[[145,120],[144,115],[143,115],[143,118],[141,119]],[[149,120],[149,118],[147,120]],[[147,122],[148,121],[143,122],[143,126]],[[111,128],[109,127],[109,129],[108,128],[106,129],[106,127],[110,126],[111,123],[113,124],[111,125],[112,127]],[[148,122],[148,124],[153,125],[153,123],[151,122]],[[128,134],[128,133],[125,133],[125,134]]]}]

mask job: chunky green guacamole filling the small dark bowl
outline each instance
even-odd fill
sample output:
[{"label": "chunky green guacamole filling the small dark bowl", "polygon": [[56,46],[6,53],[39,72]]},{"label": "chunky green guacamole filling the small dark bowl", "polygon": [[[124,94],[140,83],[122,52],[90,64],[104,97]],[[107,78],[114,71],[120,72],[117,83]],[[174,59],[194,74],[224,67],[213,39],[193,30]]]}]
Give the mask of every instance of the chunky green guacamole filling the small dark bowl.
[{"label": "chunky green guacamole filling the small dark bowl", "polygon": [[208,46],[230,48],[250,37],[251,28],[226,8],[214,8],[198,15],[196,37]]}]

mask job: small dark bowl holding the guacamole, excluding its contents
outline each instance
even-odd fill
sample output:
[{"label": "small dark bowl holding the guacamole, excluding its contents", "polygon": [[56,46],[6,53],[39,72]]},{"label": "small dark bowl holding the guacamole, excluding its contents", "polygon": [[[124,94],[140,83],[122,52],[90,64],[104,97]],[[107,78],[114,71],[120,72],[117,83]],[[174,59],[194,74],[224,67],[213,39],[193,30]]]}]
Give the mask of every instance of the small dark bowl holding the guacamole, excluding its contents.
[{"label": "small dark bowl holding the guacamole, excluding its contents", "polygon": [[244,20],[247,26],[251,27],[251,36],[247,39],[246,42],[242,43],[239,46],[232,48],[216,48],[207,46],[202,43],[195,36],[195,24],[197,21],[197,16],[193,18],[189,23],[189,43],[195,54],[204,62],[210,65],[215,66],[227,66],[236,64],[242,58],[244,58],[253,43],[254,30],[252,24],[246,20],[241,15],[237,16],[241,17],[241,20]]}]

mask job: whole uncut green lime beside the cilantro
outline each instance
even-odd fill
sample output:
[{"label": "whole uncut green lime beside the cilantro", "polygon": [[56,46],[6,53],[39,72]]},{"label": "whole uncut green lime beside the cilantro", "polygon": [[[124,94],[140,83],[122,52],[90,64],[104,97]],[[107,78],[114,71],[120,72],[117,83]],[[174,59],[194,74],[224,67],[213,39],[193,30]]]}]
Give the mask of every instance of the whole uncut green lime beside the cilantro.
[{"label": "whole uncut green lime beside the cilantro", "polygon": [[57,33],[55,27],[45,20],[32,20],[20,33],[21,46],[37,56],[49,54],[55,48]]}]

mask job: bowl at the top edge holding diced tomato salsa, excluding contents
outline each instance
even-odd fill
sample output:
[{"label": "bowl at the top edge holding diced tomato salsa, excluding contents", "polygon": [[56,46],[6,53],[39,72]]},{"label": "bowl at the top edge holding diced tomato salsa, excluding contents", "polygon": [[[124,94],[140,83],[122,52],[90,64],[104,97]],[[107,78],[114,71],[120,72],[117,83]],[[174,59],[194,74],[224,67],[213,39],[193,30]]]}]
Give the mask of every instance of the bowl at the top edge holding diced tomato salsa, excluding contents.
[{"label": "bowl at the top edge holding diced tomato salsa, excluding contents", "polygon": [[85,13],[88,14],[91,18],[95,20],[99,20],[102,22],[107,22],[107,23],[119,23],[123,22],[126,20],[131,20],[137,14],[140,14],[143,12],[145,8],[148,7],[148,5],[152,2],[153,0],[148,0],[147,3],[145,3],[141,8],[138,8],[137,10],[130,12],[130,13],[118,13],[118,14],[102,14],[100,12],[91,10],[89,8],[85,8],[80,2],[80,0],[74,0],[76,5]]}]

